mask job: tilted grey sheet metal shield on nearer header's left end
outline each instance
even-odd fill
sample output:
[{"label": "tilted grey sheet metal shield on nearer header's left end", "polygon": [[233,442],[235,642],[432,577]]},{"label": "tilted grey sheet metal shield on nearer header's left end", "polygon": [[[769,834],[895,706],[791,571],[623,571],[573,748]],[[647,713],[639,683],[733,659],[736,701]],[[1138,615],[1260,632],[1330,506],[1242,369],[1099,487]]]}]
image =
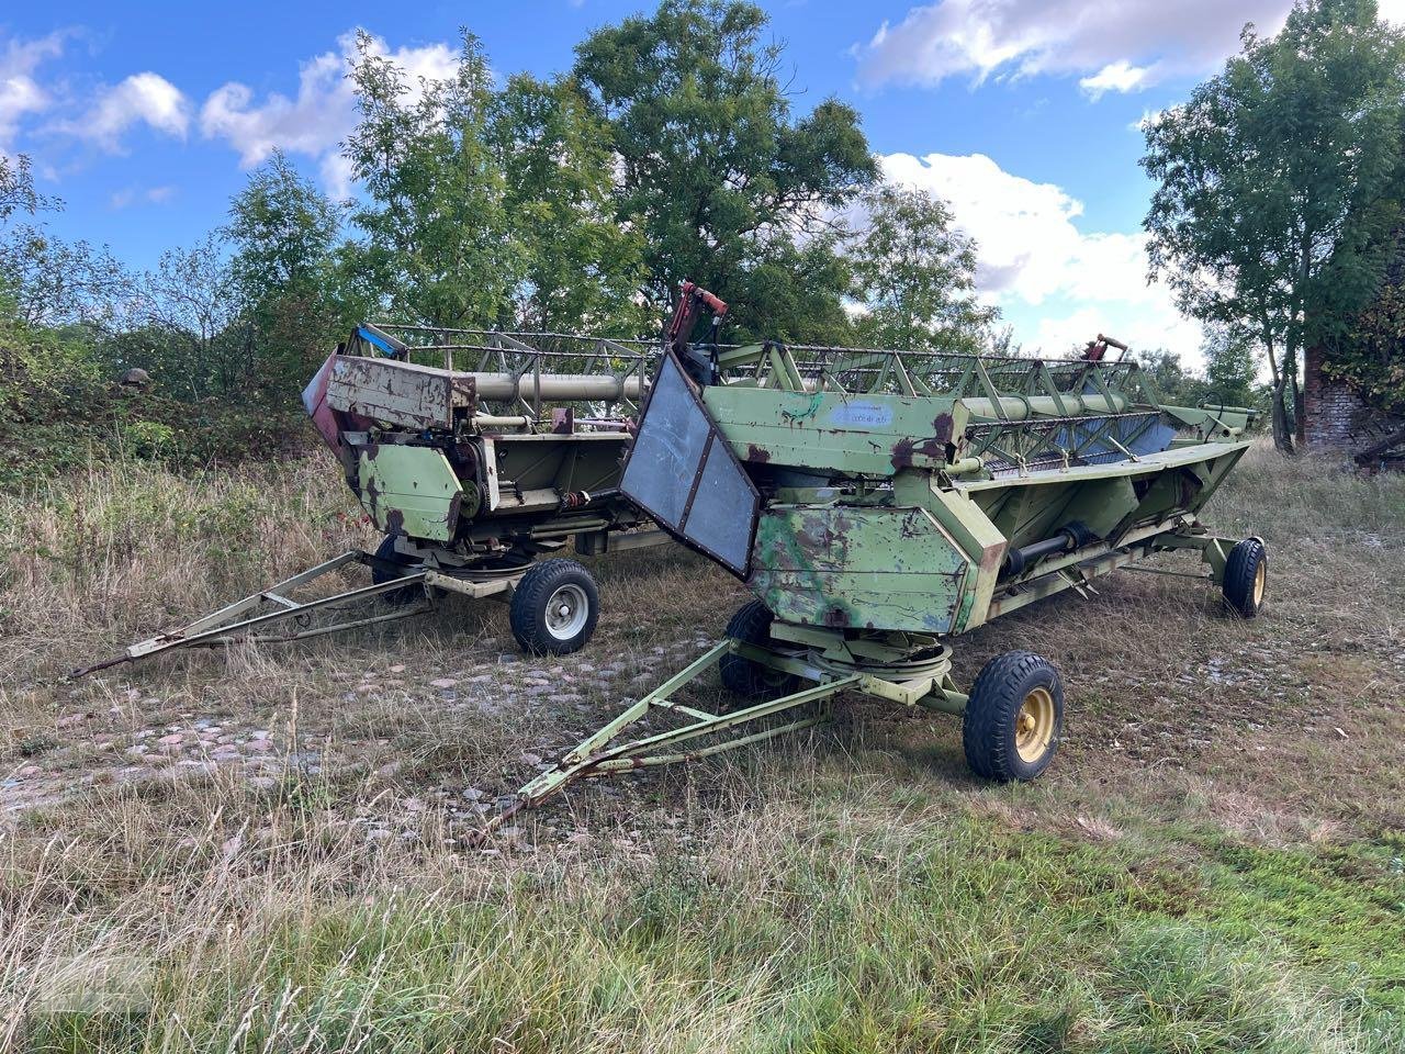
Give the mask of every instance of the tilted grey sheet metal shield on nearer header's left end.
[{"label": "tilted grey sheet metal shield on nearer header's left end", "polygon": [[620,490],[676,538],[746,578],[760,495],[672,351],[659,363]]}]

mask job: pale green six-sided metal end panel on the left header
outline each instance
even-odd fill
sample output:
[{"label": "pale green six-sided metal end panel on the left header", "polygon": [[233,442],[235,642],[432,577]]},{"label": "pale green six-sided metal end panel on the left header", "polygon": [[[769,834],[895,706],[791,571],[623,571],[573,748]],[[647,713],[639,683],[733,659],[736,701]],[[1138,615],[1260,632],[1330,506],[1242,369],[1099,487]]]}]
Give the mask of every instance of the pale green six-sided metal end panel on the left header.
[{"label": "pale green six-sided metal end panel on the left header", "polygon": [[464,489],[448,460],[433,447],[386,443],[357,457],[361,507],[389,534],[450,541]]}]

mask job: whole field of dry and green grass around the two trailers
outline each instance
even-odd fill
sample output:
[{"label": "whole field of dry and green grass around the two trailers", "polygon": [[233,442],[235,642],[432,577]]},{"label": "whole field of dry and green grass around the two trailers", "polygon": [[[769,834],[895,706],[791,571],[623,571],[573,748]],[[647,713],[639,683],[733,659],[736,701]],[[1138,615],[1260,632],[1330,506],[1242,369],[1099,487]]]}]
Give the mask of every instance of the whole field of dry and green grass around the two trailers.
[{"label": "whole field of dry and green grass around the two trailers", "polygon": [[961,638],[967,683],[1014,646],[1062,670],[1033,786],[849,698],[486,852],[493,797],[714,639],[736,583],[601,561],[559,661],[464,601],[58,680],[372,541],[347,499],[323,460],[0,496],[0,1050],[1405,1050],[1405,479],[1252,451],[1207,519],[1269,542],[1253,623],[1121,573]]}]

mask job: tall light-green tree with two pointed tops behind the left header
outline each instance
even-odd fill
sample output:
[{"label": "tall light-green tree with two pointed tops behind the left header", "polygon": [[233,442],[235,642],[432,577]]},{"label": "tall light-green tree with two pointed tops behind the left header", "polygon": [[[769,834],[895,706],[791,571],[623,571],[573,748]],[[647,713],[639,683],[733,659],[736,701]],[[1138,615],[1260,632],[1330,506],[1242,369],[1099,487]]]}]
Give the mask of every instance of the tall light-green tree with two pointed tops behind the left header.
[{"label": "tall light-green tree with two pointed tops behind the left header", "polygon": [[358,267],[396,316],[431,326],[511,320],[524,250],[507,212],[507,183],[488,139],[493,74],[464,34],[452,79],[406,80],[357,37],[351,67],[361,118],[343,153],[368,200]]}]

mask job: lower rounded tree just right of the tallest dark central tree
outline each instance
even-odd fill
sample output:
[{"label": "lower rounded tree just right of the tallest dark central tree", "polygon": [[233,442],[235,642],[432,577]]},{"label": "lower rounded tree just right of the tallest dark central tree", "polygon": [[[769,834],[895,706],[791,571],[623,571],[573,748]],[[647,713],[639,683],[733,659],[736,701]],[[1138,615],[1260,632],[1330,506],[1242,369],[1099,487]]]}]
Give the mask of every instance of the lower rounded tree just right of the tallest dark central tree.
[{"label": "lower rounded tree just right of the tallest dark central tree", "polygon": [[849,250],[867,309],[861,340],[902,351],[986,350],[999,311],[975,298],[975,242],[951,228],[947,204],[887,183],[863,204],[868,226]]}]

